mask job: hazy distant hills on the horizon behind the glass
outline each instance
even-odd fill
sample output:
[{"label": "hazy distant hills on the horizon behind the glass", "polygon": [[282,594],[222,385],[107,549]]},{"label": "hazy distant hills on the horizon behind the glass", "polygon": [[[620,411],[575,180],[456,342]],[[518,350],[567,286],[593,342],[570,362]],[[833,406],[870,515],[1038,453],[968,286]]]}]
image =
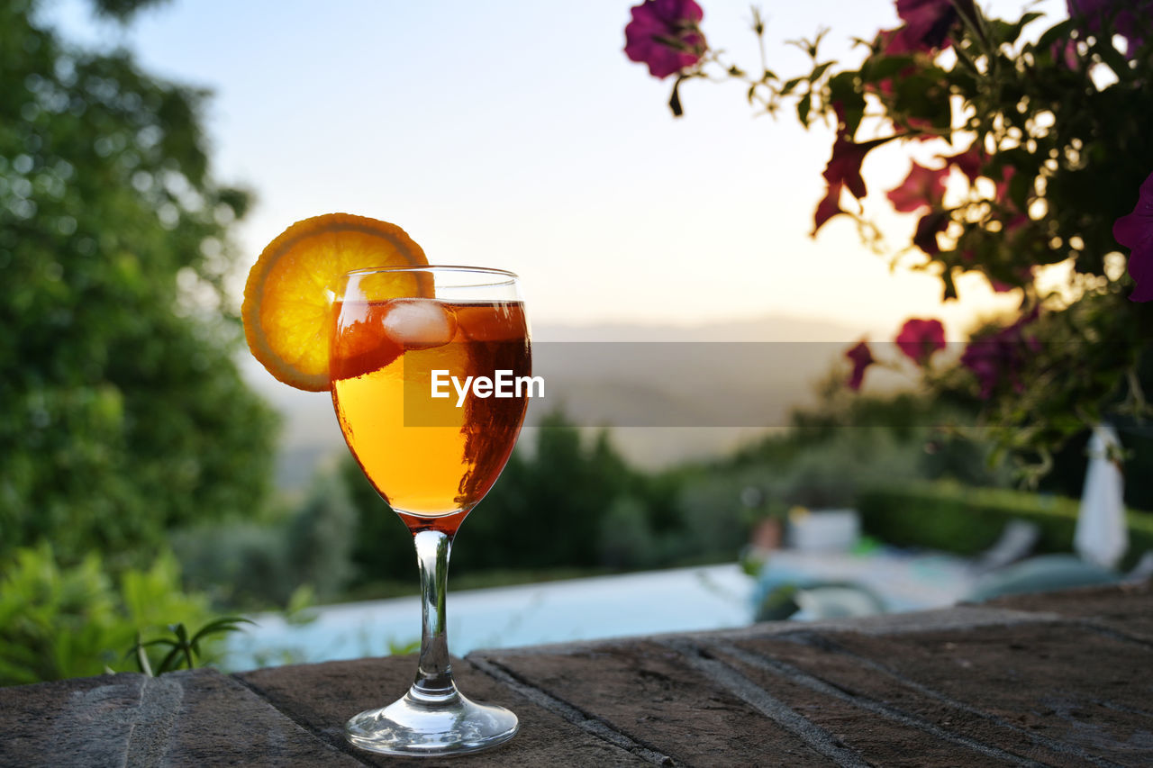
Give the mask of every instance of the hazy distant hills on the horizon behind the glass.
[{"label": "hazy distant hills on the horizon behind the glass", "polygon": [[[787,316],[695,326],[598,324],[533,329],[534,374],[545,398],[526,426],[553,407],[578,424],[613,428],[631,461],[655,468],[726,452],[783,426],[861,331]],[[284,416],[277,485],[304,487],[346,450],[324,393],[274,381],[250,355],[241,369]],[[532,441],[532,430],[525,439]]]}]

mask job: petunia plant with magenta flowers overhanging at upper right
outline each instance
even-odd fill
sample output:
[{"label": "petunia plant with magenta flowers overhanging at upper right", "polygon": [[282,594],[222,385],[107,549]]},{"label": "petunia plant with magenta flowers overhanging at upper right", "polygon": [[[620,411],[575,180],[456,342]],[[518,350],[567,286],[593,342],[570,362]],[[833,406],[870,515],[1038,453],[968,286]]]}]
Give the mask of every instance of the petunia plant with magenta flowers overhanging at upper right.
[{"label": "petunia plant with magenta flowers overhanging at upper right", "polygon": [[[849,217],[881,249],[860,204],[869,196],[862,168],[881,148],[904,148],[909,175],[886,197],[915,227],[883,250],[940,277],[945,301],[965,273],[1020,298],[1010,317],[970,329],[959,363],[911,356],[928,386],[985,401],[984,423],[1035,482],[1072,436],[1117,413],[1150,413],[1137,371],[1153,321],[1139,301],[1151,295],[1140,281],[1153,258],[1151,193],[1139,198],[1153,181],[1153,5],[1070,0],[1069,17],[1055,21],[1031,7],[996,18],[972,0],[895,6],[899,25],[854,30],[859,55],[849,62],[822,55],[828,30],[794,42],[812,62],[797,76],[774,70],[759,12],[762,54],[751,66],[706,39],[693,0],[634,7],[625,53],[654,76],[676,75],[677,115],[685,83],[736,80],[758,111],[832,127],[814,235]],[[1123,217],[1128,234],[1115,236]],[[1056,264],[1068,268],[1056,288],[1037,279]],[[943,346],[943,333],[935,340]],[[859,385],[873,359],[856,353]]]}]

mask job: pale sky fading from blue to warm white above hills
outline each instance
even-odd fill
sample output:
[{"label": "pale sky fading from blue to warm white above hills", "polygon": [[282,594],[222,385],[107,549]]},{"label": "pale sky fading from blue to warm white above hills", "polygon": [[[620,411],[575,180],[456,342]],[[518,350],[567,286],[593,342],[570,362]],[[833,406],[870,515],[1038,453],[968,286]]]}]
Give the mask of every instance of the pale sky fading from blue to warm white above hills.
[{"label": "pale sky fading from blue to warm white above hills", "polygon": [[[534,324],[790,315],[891,338],[906,317],[935,316],[960,338],[974,316],[1016,304],[974,278],[942,307],[936,278],[892,271],[845,217],[811,238],[831,130],[755,116],[737,83],[688,83],[672,118],[671,82],[621,51],[630,5],[172,0],[121,29],[82,0],[47,0],[46,16],[212,92],[213,173],[256,194],[236,229],[238,303],[264,243],[346,211],[400,225],[432,263],[518,272]],[[710,44],[755,67],[746,0],[701,5]],[[1042,9],[1063,15],[1053,0]],[[778,0],[763,14],[782,75],[807,71],[785,40],[830,27],[828,53],[852,60],[852,37],[897,23],[891,0]],[[883,193],[907,157],[886,148],[864,168],[895,247],[914,221]]]}]

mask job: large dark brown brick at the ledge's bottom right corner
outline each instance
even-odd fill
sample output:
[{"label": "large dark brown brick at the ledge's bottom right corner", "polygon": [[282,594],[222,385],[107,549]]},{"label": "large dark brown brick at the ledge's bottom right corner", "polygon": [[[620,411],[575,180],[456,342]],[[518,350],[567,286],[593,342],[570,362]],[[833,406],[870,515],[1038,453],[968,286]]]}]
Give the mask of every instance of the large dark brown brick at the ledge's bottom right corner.
[{"label": "large dark brown brick at the ledge's bottom right corner", "polygon": [[800,640],[734,647],[1022,759],[1153,765],[1151,649],[1061,624]]}]

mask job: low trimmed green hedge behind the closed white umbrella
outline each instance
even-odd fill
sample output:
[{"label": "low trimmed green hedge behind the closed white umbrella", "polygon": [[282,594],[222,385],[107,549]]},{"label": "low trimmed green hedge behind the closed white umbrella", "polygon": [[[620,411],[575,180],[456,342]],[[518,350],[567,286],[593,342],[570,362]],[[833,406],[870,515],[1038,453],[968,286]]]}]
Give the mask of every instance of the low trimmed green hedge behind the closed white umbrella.
[{"label": "low trimmed green hedge behind the closed white umbrella", "polygon": [[[1080,502],[1001,488],[972,488],[951,482],[874,485],[857,496],[861,528],[897,547],[924,547],[972,556],[996,542],[1010,520],[1040,529],[1035,552],[1070,552]],[[1153,550],[1153,513],[1126,512],[1129,550],[1122,567]]]}]

